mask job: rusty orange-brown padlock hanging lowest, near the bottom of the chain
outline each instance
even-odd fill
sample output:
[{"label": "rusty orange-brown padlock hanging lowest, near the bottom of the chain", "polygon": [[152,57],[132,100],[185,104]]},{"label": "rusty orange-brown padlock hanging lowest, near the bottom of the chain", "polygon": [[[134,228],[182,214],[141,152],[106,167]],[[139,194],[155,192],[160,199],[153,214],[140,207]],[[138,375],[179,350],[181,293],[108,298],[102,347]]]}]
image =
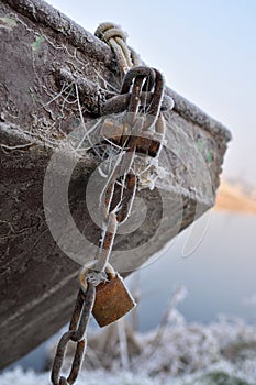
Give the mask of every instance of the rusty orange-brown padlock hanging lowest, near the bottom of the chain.
[{"label": "rusty orange-brown padlock hanging lowest, near the bottom of the chain", "polygon": [[[79,276],[84,290],[87,288],[87,274],[96,262],[86,265]],[[108,279],[96,285],[96,300],[92,315],[100,327],[105,327],[125,316],[136,305],[123,283],[123,278],[108,263],[105,267]]]}]

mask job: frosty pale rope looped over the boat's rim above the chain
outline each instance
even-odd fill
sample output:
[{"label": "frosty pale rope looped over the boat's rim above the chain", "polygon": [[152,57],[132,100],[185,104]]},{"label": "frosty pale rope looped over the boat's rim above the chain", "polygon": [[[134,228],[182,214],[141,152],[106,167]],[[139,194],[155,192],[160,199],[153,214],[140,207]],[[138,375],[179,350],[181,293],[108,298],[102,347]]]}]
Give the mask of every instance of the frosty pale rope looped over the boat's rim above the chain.
[{"label": "frosty pale rope looped over the boat's rim above the chain", "polygon": [[132,66],[142,64],[141,57],[126,43],[127,34],[119,25],[111,22],[102,23],[94,34],[113,50],[122,76]]}]

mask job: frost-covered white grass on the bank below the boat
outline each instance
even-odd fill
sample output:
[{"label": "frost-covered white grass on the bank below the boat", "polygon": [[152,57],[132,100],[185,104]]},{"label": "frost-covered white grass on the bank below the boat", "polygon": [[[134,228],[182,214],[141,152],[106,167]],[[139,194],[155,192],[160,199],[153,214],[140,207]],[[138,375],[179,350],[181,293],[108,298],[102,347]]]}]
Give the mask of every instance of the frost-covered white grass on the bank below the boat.
[{"label": "frost-covered white grass on the bank below the boat", "polygon": [[[177,309],[182,290],[172,297],[165,322],[145,333],[134,331],[142,351],[129,358],[129,370],[123,370],[121,343],[114,345],[118,355],[111,355],[111,367],[103,369],[104,355],[98,356],[98,366],[82,370],[77,385],[255,385],[256,326],[241,319],[221,317],[209,324],[188,323]],[[125,327],[125,322],[123,322]],[[125,331],[125,329],[123,330]],[[56,341],[55,341],[56,342]],[[89,342],[89,341],[88,341]],[[96,349],[93,344],[93,349]],[[92,349],[92,351],[93,351]],[[54,350],[49,352],[54,354]],[[97,352],[104,353],[102,349]],[[51,356],[52,360],[52,356]],[[87,364],[90,350],[87,354]],[[66,359],[68,370],[70,367]],[[64,374],[65,365],[63,366]],[[49,373],[35,373],[15,367],[0,375],[0,385],[51,385]]]}]

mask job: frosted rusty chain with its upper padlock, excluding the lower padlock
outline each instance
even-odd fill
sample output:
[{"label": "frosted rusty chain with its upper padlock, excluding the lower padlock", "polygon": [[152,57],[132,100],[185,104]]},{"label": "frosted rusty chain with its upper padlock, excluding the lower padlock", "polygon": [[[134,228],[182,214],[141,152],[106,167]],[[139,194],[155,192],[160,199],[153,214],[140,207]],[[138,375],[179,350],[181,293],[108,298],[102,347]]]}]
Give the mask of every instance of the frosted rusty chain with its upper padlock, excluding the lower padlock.
[{"label": "frosted rusty chain with its upper padlock, excluding the lower padlock", "polygon": [[[121,161],[114,165],[105,189],[102,191],[104,230],[96,260],[85,265],[79,275],[80,289],[69,330],[60,338],[53,362],[52,383],[54,385],[71,385],[79,374],[86,350],[87,327],[96,300],[96,287],[108,279],[107,271],[110,272],[112,268],[109,257],[116,230],[127,220],[137,189],[138,177],[133,170],[134,154],[143,153],[155,157],[160,151],[165,133],[162,110],[166,106],[170,107],[164,90],[164,78],[157,69],[135,66],[125,73],[120,95],[112,95],[101,108],[102,117],[124,110],[129,112],[121,123],[116,123],[109,117],[103,118],[101,130],[102,138],[107,133],[108,142],[119,146]],[[164,108],[163,105],[165,105]],[[60,371],[69,341],[76,343],[76,350],[70,373],[66,378],[60,375]]]}]

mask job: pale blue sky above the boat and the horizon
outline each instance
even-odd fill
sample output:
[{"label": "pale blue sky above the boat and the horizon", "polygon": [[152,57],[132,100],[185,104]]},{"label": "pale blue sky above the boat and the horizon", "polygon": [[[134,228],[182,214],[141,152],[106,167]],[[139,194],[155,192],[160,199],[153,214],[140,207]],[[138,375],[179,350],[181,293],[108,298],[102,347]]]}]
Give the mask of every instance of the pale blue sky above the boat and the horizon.
[{"label": "pale blue sky above the boat and the horizon", "polygon": [[256,187],[256,0],[48,0],[86,30],[113,21],[168,86],[233,134],[224,175]]}]

